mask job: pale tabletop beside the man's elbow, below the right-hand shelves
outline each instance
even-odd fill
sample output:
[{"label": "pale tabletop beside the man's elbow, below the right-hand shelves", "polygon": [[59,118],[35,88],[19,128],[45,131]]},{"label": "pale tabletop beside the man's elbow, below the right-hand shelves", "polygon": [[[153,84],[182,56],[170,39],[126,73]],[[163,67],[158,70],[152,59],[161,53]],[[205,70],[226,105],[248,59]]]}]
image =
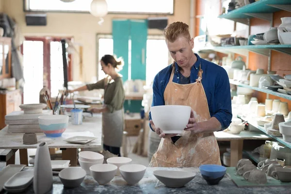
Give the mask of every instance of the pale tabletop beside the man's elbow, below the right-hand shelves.
[{"label": "pale tabletop beside the man's elbow, below the right-hand shelves", "polygon": [[270,140],[271,137],[267,136],[262,131],[249,131],[243,130],[240,134],[231,134],[223,131],[214,132],[217,141],[230,141],[230,140]]}]

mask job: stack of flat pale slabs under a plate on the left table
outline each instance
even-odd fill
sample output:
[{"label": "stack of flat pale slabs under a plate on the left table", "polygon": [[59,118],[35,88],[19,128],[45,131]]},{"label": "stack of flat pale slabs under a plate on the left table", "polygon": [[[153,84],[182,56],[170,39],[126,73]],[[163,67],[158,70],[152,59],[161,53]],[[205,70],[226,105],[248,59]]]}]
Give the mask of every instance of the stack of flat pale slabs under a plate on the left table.
[{"label": "stack of flat pale slabs under a plate on the left table", "polygon": [[38,117],[50,115],[52,110],[43,110],[42,113],[26,114],[23,111],[15,111],[5,116],[5,124],[11,133],[42,132],[38,125]]}]

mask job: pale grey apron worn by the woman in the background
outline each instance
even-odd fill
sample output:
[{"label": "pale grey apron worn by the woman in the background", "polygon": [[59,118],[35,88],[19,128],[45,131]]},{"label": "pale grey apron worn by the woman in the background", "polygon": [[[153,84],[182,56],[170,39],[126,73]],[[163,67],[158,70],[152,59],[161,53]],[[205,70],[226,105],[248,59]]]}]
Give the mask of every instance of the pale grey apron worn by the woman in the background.
[{"label": "pale grey apron worn by the woman in the background", "polygon": [[[110,80],[104,81],[106,89]],[[102,113],[102,134],[103,144],[106,146],[121,147],[124,129],[124,110],[114,111],[113,113]]]}]

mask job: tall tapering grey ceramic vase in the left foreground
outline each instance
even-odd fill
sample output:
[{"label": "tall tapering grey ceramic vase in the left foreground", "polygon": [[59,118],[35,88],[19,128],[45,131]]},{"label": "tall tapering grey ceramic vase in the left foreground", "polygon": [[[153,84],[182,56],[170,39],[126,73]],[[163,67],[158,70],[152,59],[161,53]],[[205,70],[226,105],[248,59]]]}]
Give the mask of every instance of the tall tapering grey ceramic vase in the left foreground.
[{"label": "tall tapering grey ceramic vase in the left foreground", "polygon": [[52,188],[52,169],[49,147],[46,142],[37,146],[34,159],[33,191],[35,194],[45,194]]}]

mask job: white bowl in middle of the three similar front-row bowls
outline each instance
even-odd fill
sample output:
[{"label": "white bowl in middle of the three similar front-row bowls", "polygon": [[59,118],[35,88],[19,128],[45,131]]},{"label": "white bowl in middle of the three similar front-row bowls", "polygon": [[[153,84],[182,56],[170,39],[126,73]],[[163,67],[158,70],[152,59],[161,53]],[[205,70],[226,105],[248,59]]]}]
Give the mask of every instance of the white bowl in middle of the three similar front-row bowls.
[{"label": "white bowl in middle of the three similar front-row bowls", "polygon": [[117,166],[113,164],[95,164],[90,167],[90,171],[99,185],[106,185],[114,178]]}]

